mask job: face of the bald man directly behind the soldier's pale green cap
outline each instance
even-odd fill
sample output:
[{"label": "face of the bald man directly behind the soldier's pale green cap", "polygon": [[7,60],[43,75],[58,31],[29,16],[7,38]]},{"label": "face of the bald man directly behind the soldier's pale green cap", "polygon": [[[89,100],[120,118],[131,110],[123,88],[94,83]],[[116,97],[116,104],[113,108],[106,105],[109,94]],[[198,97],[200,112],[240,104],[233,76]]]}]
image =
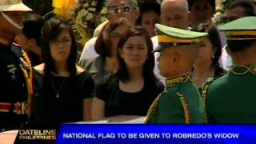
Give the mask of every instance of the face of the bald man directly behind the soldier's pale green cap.
[{"label": "face of the bald man directly behind the soldier's pale green cap", "polygon": [[190,24],[189,14],[184,6],[166,5],[162,6],[161,22],[165,26],[175,27],[179,29],[188,29]]}]

